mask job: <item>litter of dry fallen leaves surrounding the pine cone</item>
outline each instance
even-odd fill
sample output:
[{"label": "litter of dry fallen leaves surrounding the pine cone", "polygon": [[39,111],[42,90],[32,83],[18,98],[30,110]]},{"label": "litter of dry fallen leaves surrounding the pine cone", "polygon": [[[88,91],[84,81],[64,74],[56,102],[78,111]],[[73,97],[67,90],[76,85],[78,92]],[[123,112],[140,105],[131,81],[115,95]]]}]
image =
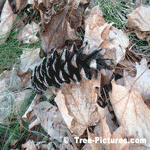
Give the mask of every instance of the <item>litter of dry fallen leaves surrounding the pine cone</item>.
[{"label": "litter of dry fallen leaves surrounding the pine cone", "polygon": [[[81,8],[88,4],[87,1],[67,1],[72,7],[64,7],[56,10],[57,1],[16,1],[15,11],[24,9],[27,4],[32,9],[40,12],[43,31],[40,34],[39,25],[35,22],[24,24],[17,38],[23,43],[30,43],[41,40],[42,50],[24,49],[20,57],[20,64],[15,64],[11,71],[4,71],[0,75],[0,123],[5,124],[6,119],[12,111],[17,115],[23,101],[29,97],[33,89],[30,84],[30,75],[36,65],[42,61],[40,51],[51,52],[56,47],[60,52],[67,45],[73,42],[77,46],[88,41],[89,49],[103,48],[102,58],[114,61],[113,71],[102,70],[98,74],[98,79],[82,79],[80,84],[63,84],[60,90],[49,88],[46,91],[48,101],[40,102],[39,98],[43,95],[36,95],[27,111],[22,115],[24,121],[34,119],[29,124],[29,130],[37,125],[45,130],[50,136],[50,142],[28,140],[22,143],[22,148],[26,149],[148,149],[150,147],[150,112],[144,103],[149,98],[149,66],[145,58],[141,62],[127,59],[127,53],[136,55],[129,50],[129,38],[125,31],[117,29],[113,23],[107,23],[103,12],[97,5],[92,9]],[[54,4],[54,5],[52,5]],[[7,11],[9,9],[9,11]],[[146,15],[149,7],[140,6],[132,13],[127,15],[129,29],[132,30],[139,39],[146,40],[149,44],[149,16]],[[83,26],[84,17],[84,26]],[[1,12],[1,44],[7,40],[12,25],[18,19],[12,11],[9,1],[6,0]],[[7,23],[9,20],[9,23]],[[84,40],[79,33],[79,29],[85,32]],[[35,31],[35,32],[34,32]],[[37,32],[40,38],[37,37]],[[2,35],[6,35],[2,37]],[[111,62],[108,61],[108,64]],[[131,65],[132,64],[132,65]],[[123,66],[117,70],[118,66]],[[134,75],[130,72],[134,71]],[[115,75],[115,80],[113,79]],[[121,79],[118,79],[121,75]],[[103,82],[102,82],[103,80]],[[120,84],[121,83],[121,84]],[[105,93],[105,101],[111,104],[117,120],[113,122],[110,106],[102,108],[98,101],[103,99],[102,90],[111,84],[109,93]],[[119,85],[120,84],[120,85]],[[54,94],[53,94],[54,92]],[[45,94],[45,96],[46,96]],[[55,101],[52,104],[51,97]],[[35,118],[36,116],[36,118]],[[131,144],[126,143],[75,143],[74,137],[79,136],[86,139],[95,140],[96,137],[110,140],[122,139],[129,141],[131,138],[145,138],[146,143]],[[69,138],[69,143],[65,144],[65,138]]]}]

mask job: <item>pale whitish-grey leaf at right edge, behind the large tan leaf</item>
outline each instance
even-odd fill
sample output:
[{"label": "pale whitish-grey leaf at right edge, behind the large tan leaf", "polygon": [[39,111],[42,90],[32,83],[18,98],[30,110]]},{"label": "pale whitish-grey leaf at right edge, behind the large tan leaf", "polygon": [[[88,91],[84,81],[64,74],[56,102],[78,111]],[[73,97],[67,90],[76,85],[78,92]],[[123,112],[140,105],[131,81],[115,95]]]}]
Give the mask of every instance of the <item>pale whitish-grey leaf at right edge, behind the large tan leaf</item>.
[{"label": "pale whitish-grey leaf at right edge, behind the large tan leaf", "polygon": [[150,70],[147,66],[146,58],[143,58],[140,65],[136,63],[136,76],[124,76],[124,86],[128,90],[137,90],[145,100],[150,97]]}]

